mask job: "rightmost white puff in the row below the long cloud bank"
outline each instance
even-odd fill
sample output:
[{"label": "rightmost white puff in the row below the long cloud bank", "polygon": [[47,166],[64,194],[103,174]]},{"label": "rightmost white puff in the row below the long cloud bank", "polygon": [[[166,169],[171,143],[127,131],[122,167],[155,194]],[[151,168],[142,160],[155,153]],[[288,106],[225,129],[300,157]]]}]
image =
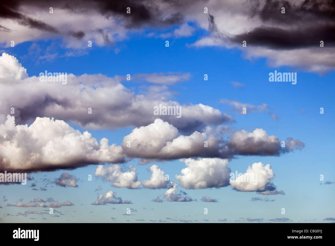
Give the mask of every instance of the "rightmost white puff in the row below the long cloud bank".
[{"label": "rightmost white puff in the row below the long cloud bank", "polygon": [[264,165],[262,162],[248,166],[246,173],[232,178],[229,183],[232,188],[240,191],[266,191],[274,190],[271,180],[274,172],[270,164]]}]

